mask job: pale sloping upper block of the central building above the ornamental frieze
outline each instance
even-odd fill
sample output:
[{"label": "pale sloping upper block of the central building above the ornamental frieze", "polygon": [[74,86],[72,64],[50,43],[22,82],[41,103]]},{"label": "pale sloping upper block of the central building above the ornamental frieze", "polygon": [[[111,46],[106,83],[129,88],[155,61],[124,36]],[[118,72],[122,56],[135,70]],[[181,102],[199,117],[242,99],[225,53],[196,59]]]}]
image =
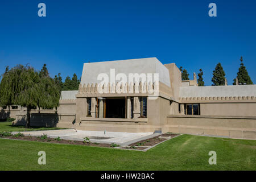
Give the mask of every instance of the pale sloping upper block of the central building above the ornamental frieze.
[{"label": "pale sloping upper block of the central building above the ornamental frieze", "polygon": [[[171,86],[169,70],[156,57],[84,63],[81,84],[100,83],[101,80],[97,80],[100,73],[106,73],[110,79],[110,69],[115,69],[115,76],[118,73],[124,73],[127,77],[127,81],[129,81],[129,73],[138,73],[139,75],[141,73],[145,73],[146,75],[147,73],[158,73],[159,81]],[[154,75],[152,75],[152,79],[152,82],[154,82]],[[109,82],[112,84],[110,80]],[[116,82],[117,81],[115,81],[115,84]]]}]

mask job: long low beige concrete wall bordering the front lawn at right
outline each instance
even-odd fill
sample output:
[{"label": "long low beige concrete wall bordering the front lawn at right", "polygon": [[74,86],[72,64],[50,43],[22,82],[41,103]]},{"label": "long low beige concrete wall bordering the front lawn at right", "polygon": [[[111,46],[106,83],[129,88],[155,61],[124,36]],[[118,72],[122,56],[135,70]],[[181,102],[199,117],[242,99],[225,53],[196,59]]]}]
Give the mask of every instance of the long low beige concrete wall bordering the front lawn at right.
[{"label": "long low beige concrete wall bordering the front lawn at right", "polygon": [[164,132],[256,139],[256,117],[168,115]]}]

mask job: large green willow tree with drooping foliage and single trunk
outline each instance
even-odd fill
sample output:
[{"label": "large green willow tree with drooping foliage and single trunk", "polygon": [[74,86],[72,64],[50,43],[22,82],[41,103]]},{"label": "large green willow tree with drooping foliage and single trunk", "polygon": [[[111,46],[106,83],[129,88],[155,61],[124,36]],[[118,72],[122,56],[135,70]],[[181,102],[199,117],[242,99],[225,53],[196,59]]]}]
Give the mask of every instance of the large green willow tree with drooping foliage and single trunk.
[{"label": "large green willow tree with drooping foliage and single trunk", "polygon": [[17,65],[2,75],[0,105],[20,105],[27,108],[26,127],[30,127],[32,107],[59,106],[60,93],[52,78],[39,76],[29,65]]}]

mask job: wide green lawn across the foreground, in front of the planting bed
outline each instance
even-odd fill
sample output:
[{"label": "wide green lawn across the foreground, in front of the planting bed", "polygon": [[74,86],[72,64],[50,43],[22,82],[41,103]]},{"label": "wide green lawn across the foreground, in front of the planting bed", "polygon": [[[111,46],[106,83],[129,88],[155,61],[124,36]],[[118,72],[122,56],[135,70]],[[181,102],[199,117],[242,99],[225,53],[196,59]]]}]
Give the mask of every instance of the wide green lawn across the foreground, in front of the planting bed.
[{"label": "wide green lawn across the foreground, in front of the planting bed", "polygon": [[0,170],[256,170],[256,140],[180,135],[142,152],[0,139]]}]

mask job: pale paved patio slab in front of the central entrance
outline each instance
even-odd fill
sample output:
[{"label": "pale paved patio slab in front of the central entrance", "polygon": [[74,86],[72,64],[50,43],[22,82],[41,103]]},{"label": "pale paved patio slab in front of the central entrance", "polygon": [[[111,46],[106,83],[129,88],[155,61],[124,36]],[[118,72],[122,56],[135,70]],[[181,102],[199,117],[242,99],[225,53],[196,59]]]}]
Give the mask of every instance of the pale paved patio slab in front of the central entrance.
[{"label": "pale paved patio slab in front of the central entrance", "polygon": [[[47,135],[50,138],[60,137],[65,140],[77,140],[83,141],[85,137],[90,138],[90,142],[97,143],[116,143],[121,146],[127,146],[131,143],[138,142],[140,140],[152,138],[160,135],[160,133],[124,133],[124,132],[109,132],[106,131],[82,131],[75,129],[68,130],[43,130],[43,131],[24,131],[20,132],[25,136],[40,137],[41,135]],[[13,133],[15,134],[15,133]]]}]

